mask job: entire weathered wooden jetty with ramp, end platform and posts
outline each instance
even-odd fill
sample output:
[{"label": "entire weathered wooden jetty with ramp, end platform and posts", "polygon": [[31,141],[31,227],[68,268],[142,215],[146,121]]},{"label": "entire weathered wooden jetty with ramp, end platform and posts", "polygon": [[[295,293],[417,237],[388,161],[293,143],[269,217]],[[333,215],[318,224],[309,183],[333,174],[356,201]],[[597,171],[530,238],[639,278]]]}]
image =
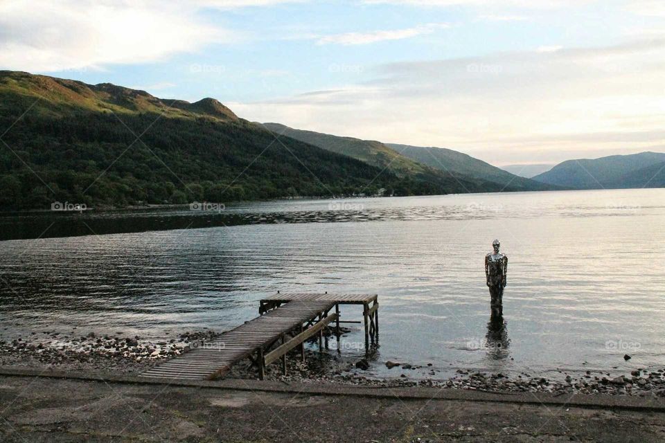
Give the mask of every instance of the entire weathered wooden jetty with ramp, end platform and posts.
[{"label": "entire weathered wooden jetty with ramp, end platform and posts", "polygon": [[[260,300],[257,318],[143,372],[141,377],[217,379],[243,359],[250,359],[258,368],[260,379],[265,376],[265,367],[280,359],[285,374],[287,352],[297,346],[304,360],[305,341],[317,334],[319,350],[323,350],[323,329],[333,321],[339,344],[339,324],[349,323],[339,320],[339,305],[344,304],[363,305],[365,347],[369,350],[370,340],[378,343],[378,296],[278,292]],[[331,313],[332,309],[335,312]]]}]

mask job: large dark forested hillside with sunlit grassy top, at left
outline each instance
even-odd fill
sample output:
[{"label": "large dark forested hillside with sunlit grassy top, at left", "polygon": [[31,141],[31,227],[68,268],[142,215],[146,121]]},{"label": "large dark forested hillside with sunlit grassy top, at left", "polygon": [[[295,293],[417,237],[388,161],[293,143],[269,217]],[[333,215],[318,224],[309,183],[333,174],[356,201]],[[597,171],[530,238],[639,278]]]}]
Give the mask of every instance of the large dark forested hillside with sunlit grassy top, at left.
[{"label": "large dark forested hillside with sunlit grassy top, at left", "polygon": [[292,138],[274,143],[211,98],[113,84],[0,71],[0,128],[2,209],[447,191]]}]

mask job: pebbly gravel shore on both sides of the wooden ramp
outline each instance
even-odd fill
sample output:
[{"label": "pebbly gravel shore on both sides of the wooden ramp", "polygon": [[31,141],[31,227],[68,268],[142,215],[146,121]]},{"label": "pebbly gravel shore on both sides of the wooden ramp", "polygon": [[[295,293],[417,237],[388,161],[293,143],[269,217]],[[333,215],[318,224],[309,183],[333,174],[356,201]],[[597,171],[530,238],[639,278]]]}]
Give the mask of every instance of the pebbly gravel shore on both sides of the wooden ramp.
[{"label": "pebbly gravel shore on both sides of the wooden ramp", "polygon": [[[97,336],[89,333],[71,336],[42,332],[11,341],[0,337],[0,365],[9,367],[44,368],[139,374],[152,366],[171,359],[196,347],[215,335],[212,331],[186,332],[176,338],[153,341],[137,336]],[[319,353],[307,350],[305,361],[299,354],[287,359],[287,375],[281,365],[267,368],[266,378],[285,383],[348,383],[377,387],[432,386],[450,389],[481,390],[487,392],[554,392],[639,395],[665,397],[665,370],[633,370],[630,374],[610,377],[609,372],[587,370],[579,377],[566,375],[564,381],[554,381],[523,372],[517,375],[457,370],[453,377],[443,378],[432,365],[411,365],[393,361],[350,360],[334,350]],[[396,376],[378,379],[364,375],[371,365],[387,365]],[[256,370],[249,361],[241,361],[231,368],[229,378],[256,379]]]}]

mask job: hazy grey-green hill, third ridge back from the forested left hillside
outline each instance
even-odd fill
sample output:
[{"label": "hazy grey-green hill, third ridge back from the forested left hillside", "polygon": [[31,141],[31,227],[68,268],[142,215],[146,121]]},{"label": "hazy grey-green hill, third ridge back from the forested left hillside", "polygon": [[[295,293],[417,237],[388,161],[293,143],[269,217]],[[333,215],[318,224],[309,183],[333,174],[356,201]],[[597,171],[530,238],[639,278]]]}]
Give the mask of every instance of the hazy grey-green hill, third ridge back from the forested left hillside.
[{"label": "hazy grey-green hill, third ridge back from the forested left hillside", "polygon": [[498,183],[504,190],[533,191],[557,188],[556,186],[544,185],[544,183],[525,179],[524,177],[517,177],[515,174],[511,174],[482,160],[475,159],[470,155],[444,147],[421,147],[398,145],[396,143],[388,143],[387,145],[403,156],[407,156],[418,163],[423,163],[423,165],[428,165],[445,172],[493,181]]}]

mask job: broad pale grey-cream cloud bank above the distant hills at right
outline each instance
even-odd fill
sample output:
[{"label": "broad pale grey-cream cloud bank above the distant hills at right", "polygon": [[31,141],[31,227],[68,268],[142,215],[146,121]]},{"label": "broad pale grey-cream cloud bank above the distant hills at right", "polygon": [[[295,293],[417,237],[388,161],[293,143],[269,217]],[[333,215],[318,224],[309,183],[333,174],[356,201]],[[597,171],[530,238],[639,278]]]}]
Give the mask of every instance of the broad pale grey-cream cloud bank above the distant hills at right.
[{"label": "broad pale grey-cream cloud bank above the distant hills at right", "polygon": [[310,96],[234,103],[251,120],[552,163],[662,145],[665,39],[375,66]]}]

